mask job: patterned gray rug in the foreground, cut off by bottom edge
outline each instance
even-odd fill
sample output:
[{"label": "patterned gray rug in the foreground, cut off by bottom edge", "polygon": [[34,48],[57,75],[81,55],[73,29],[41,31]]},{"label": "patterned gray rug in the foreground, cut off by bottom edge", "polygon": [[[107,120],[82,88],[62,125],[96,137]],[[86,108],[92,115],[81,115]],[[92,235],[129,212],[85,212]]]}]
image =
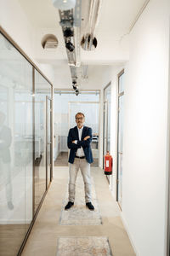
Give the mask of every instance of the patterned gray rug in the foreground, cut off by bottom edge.
[{"label": "patterned gray rug in the foreground, cut off by bottom edge", "polygon": [[112,256],[105,236],[59,237],[56,256]]}]

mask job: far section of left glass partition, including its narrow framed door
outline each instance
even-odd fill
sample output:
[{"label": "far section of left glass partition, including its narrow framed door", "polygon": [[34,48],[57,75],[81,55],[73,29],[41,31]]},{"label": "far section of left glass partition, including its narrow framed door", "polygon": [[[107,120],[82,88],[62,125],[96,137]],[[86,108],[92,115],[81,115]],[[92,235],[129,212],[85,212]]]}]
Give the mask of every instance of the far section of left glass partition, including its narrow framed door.
[{"label": "far section of left glass partition, including its narrow framed door", "polygon": [[51,85],[35,70],[35,207],[37,211],[42,195],[50,182],[50,116]]}]

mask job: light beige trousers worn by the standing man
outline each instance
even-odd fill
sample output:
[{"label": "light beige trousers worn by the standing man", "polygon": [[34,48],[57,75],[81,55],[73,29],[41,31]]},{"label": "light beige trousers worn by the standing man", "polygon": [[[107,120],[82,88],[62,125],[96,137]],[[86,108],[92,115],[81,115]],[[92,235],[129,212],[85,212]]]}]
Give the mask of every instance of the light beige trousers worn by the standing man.
[{"label": "light beige trousers worn by the standing man", "polygon": [[84,181],[85,201],[91,201],[91,176],[90,176],[90,164],[86,159],[75,158],[74,163],[70,164],[69,174],[69,201],[75,201],[75,189],[77,181],[78,171],[82,172],[82,178]]}]

